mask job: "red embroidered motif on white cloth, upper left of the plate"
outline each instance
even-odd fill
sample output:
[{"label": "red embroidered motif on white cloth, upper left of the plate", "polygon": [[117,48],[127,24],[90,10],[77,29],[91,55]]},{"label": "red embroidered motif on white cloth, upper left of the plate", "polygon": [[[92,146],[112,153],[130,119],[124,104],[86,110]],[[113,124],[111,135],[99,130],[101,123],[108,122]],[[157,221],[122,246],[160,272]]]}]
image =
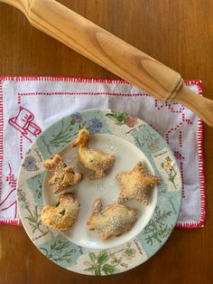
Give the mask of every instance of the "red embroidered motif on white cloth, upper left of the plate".
[{"label": "red embroidered motif on white cloth, upper left of the plate", "polygon": [[8,122],[12,127],[20,131],[23,137],[32,142],[33,137],[37,137],[42,133],[42,129],[33,122],[33,119],[34,115],[30,110],[19,107],[18,115],[10,118]]}]

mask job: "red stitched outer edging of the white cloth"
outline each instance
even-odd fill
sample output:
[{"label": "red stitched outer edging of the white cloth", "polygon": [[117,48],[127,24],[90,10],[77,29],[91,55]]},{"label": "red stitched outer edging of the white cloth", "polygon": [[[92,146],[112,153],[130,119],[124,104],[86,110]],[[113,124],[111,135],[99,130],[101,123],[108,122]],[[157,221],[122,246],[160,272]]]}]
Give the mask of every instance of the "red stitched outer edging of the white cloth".
[{"label": "red stitched outer edging of the white cloth", "polygon": [[[93,79],[93,78],[75,78],[75,77],[63,77],[63,76],[0,76],[0,194],[2,185],[2,164],[3,164],[3,90],[2,81],[3,80],[59,80],[59,81],[72,81],[72,82],[82,82],[82,83],[123,83],[129,84],[126,80],[116,79]],[[184,80],[187,86],[196,84],[199,89],[199,95],[202,95],[202,83],[200,80]],[[198,129],[197,129],[197,142],[199,151],[199,184],[200,184],[200,220],[197,223],[177,223],[179,228],[200,228],[204,225],[206,219],[206,183],[204,175],[204,156],[203,156],[203,123],[199,119]],[[1,223],[21,225],[19,220],[6,220],[1,221]]]}]

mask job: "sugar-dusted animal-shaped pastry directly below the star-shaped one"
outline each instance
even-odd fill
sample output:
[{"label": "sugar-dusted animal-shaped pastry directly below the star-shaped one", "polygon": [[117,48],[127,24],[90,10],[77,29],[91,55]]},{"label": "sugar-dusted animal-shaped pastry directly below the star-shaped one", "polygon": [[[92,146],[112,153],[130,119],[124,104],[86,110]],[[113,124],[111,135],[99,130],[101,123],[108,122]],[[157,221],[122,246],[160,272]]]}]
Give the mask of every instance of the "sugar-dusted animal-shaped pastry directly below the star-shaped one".
[{"label": "sugar-dusted animal-shaped pastry directly below the star-shaped one", "polygon": [[121,204],[111,204],[102,210],[102,203],[97,199],[92,208],[92,214],[88,219],[88,230],[103,232],[103,241],[112,236],[130,231],[137,221],[137,212]]}]

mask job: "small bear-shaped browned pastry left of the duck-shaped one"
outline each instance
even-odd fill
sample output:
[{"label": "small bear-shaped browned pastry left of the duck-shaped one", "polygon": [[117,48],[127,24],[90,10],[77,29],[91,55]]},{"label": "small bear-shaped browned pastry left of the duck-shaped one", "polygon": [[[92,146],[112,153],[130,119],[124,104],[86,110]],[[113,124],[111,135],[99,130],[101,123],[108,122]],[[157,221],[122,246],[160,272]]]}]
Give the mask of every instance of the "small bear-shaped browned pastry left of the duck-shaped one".
[{"label": "small bear-shaped browned pastry left of the duck-shaped one", "polygon": [[72,166],[66,166],[60,155],[56,154],[51,159],[44,161],[43,166],[54,175],[49,180],[52,185],[52,192],[58,194],[67,189],[70,185],[78,185],[82,175],[74,173]]}]

